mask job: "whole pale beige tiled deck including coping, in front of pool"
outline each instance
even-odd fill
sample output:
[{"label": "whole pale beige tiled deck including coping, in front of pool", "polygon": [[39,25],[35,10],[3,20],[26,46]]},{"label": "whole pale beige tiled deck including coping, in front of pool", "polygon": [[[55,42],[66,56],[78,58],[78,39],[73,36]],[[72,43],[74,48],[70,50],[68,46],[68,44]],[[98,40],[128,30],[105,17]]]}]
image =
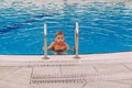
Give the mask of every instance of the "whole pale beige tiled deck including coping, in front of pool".
[{"label": "whole pale beige tiled deck including coping, in front of pool", "polygon": [[0,55],[0,88],[132,88],[132,52],[42,57]]}]

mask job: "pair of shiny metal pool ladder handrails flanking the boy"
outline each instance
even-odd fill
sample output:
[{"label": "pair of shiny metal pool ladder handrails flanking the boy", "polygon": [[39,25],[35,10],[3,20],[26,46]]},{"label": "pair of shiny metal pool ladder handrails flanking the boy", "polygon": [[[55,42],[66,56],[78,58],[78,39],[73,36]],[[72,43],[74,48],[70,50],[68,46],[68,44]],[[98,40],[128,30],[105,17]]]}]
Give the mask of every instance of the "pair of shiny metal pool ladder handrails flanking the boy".
[{"label": "pair of shiny metal pool ladder handrails flanking the boy", "polygon": [[[75,24],[75,56],[74,58],[78,59],[80,58],[78,55],[78,44],[79,44],[79,24],[76,22]],[[50,57],[47,56],[47,26],[46,23],[44,23],[44,57],[43,59],[48,59]]]}]

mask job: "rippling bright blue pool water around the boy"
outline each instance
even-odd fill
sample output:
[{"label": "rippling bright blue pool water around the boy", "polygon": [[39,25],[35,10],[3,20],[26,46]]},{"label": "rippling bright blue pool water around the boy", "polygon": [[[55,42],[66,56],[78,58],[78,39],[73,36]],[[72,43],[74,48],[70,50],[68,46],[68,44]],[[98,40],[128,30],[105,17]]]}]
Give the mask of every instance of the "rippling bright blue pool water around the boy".
[{"label": "rippling bright blue pool water around the boy", "polygon": [[132,2],[57,1],[0,0],[0,54],[42,55],[44,22],[48,45],[64,31],[73,48],[79,22],[80,54],[132,51]]}]

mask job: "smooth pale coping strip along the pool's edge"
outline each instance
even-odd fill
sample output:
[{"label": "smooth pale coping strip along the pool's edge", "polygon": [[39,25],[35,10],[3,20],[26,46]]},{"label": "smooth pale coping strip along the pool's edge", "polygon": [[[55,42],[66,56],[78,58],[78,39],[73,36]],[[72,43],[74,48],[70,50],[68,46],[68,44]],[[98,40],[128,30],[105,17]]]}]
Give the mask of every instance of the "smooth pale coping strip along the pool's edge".
[{"label": "smooth pale coping strip along the pool's edge", "polygon": [[[0,55],[1,61],[77,61],[75,55],[48,55],[50,59],[43,59],[43,55]],[[103,61],[103,59],[132,59],[132,52],[105,53],[79,55],[79,61]]]}]

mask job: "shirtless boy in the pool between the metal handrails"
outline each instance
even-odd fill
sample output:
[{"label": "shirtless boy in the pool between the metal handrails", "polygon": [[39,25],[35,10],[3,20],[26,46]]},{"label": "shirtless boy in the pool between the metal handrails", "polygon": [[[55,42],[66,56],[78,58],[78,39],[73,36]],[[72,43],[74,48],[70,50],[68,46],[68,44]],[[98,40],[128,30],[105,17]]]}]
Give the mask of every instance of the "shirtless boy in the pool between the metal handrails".
[{"label": "shirtless boy in the pool between the metal handrails", "polygon": [[65,50],[69,51],[70,48],[64,40],[64,33],[58,31],[55,36],[55,42],[53,42],[47,50],[51,50],[54,55],[57,55],[58,53],[66,55],[67,53],[65,53]]}]

